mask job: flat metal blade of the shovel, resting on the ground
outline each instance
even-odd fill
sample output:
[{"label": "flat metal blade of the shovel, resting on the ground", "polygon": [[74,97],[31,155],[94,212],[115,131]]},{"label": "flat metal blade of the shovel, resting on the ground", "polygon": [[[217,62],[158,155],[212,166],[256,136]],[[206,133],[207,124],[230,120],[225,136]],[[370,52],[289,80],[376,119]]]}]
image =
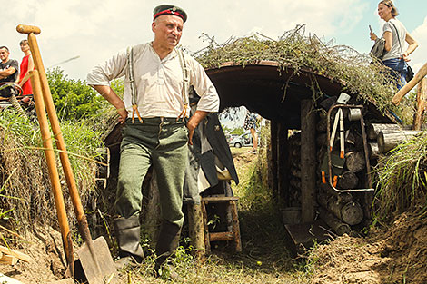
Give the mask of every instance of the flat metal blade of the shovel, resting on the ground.
[{"label": "flat metal blade of the shovel, resting on the ground", "polygon": [[[75,277],[84,274],[89,284],[117,283],[117,269],[104,237],[92,241],[92,251],[86,243],[77,250],[79,259],[75,263]],[[77,271],[81,269],[83,271]],[[80,277],[79,277],[80,278]]]}]

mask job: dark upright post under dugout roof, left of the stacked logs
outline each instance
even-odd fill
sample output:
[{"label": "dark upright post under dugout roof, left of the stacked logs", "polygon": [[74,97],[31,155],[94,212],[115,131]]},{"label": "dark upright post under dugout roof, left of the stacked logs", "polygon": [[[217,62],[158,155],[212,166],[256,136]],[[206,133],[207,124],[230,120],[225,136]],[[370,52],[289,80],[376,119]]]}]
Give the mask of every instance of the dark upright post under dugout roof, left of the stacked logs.
[{"label": "dark upright post under dugout roof, left of the stacked logs", "polygon": [[316,192],[316,115],[313,100],[301,102],[301,219],[314,220]]}]

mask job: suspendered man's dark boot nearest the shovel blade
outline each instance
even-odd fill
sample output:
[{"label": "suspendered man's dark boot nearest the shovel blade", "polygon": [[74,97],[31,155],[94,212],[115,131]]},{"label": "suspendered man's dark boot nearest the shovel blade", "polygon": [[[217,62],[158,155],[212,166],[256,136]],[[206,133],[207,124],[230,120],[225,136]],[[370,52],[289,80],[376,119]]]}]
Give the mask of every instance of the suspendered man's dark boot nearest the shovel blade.
[{"label": "suspendered man's dark boot nearest the shovel blade", "polygon": [[144,260],[144,251],[140,244],[140,225],[138,216],[114,219],[115,235],[119,247],[119,260],[116,266],[140,264]]}]

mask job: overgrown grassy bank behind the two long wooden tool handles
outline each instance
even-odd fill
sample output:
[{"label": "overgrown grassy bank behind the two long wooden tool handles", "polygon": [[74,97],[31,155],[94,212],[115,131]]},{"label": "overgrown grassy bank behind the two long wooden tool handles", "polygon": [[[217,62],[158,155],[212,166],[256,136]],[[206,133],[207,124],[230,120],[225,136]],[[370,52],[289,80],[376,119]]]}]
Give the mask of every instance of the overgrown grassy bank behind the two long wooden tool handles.
[{"label": "overgrown grassy bank behind the two long wooden tool handles", "polygon": [[[77,188],[82,202],[87,203],[94,191],[97,168],[94,161],[82,157],[95,156],[95,148],[101,144],[100,135],[83,124],[63,123],[61,126]],[[14,110],[3,110],[0,112],[0,139],[1,219],[9,220],[13,229],[21,232],[30,230],[35,224],[57,228],[55,202],[37,122],[25,120]],[[74,210],[65,176],[59,159],[56,163],[65,192],[69,223],[74,225]]]}]

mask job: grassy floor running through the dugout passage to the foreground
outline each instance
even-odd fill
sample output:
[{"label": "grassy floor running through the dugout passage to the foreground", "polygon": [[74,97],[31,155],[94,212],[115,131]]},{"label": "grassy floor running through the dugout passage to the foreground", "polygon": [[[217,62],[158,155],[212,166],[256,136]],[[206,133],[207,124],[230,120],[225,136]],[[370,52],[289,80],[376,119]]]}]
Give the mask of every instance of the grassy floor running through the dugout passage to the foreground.
[{"label": "grassy floor running through the dugout passage to the foreground", "polygon": [[[180,247],[174,262],[184,282],[171,283],[309,283],[311,275],[305,264],[293,260],[286,249],[284,227],[266,185],[266,148],[260,148],[256,155],[247,153],[249,149],[231,149],[242,158],[235,158],[241,182],[232,188],[240,198],[243,251],[236,253],[233,242],[212,243],[212,254],[203,264],[197,264],[191,248]],[[141,268],[127,270],[131,274],[128,283],[164,283],[152,277],[153,267],[153,260],[147,259]]]}]

